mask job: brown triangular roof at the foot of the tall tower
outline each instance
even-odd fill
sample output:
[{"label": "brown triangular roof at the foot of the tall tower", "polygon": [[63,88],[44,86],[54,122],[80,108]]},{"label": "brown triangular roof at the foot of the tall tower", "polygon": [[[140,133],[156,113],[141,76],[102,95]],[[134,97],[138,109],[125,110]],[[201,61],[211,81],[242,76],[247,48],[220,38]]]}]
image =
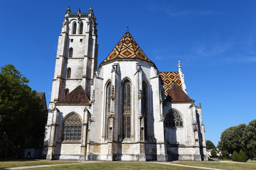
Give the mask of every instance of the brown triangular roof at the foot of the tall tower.
[{"label": "brown triangular roof at the foot of the tall tower", "polygon": [[67,96],[61,99],[58,103],[89,103],[89,98],[85,94],[85,90],[82,89],[82,86],[78,86],[73,91],[71,91]]}]

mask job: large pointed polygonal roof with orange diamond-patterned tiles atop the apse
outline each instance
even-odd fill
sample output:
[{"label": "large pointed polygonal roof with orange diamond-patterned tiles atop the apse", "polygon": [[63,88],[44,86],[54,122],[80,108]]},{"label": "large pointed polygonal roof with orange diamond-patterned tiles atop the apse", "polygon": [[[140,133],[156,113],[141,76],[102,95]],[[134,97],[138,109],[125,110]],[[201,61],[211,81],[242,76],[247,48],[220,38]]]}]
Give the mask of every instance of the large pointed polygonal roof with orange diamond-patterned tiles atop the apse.
[{"label": "large pointed polygonal roof with orange diamond-patterned tiles atop the apse", "polygon": [[110,52],[110,55],[108,55],[102,63],[116,59],[140,59],[146,62],[151,62],[137,42],[135,42],[134,38],[132,38],[129,31],[124,34],[121,40],[119,40],[117,45],[114,47],[114,50]]}]

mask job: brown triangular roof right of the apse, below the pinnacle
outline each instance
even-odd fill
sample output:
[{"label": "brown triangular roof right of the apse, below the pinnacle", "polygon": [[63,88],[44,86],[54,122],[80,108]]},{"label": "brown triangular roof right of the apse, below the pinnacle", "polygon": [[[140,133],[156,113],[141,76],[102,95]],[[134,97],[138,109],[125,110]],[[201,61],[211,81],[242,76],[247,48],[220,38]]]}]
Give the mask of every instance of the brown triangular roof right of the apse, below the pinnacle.
[{"label": "brown triangular roof right of the apse, below the pinnacle", "polygon": [[171,84],[171,90],[169,94],[166,96],[166,102],[194,102],[192,98],[186,94],[176,82]]}]

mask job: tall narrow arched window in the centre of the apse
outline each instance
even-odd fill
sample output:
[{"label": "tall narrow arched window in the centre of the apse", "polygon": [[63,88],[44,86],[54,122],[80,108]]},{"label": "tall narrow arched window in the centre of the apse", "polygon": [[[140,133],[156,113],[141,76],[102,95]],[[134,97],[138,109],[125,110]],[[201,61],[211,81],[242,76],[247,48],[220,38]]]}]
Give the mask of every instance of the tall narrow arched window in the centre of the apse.
[{"label": "tall narrow arched window in the centre of the apse", "polygon": [[131,84],[128,80],[122,85],[122,130],[123,139],[131,138]]}]

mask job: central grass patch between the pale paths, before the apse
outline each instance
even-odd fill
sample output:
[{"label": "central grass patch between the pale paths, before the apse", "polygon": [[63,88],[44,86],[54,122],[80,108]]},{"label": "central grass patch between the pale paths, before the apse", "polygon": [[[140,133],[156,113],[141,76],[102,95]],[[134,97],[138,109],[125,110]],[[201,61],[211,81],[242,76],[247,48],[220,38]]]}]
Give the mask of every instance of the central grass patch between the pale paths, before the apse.
[{"label": "central grass patch between the pale paths, before the apse", "polygon": [[[48,166],[35,169],[110,169],[110,170],[150,170],[150,169],[174,169],[174,170],[189,170],[190,167],[172,166],[171,164],[156,164],[156,163],[139,163],[139,162],[98,162],[98,163],[85,163],[73,164],[62,166]],[[193,169],[198,170],[198,169]]]}]

